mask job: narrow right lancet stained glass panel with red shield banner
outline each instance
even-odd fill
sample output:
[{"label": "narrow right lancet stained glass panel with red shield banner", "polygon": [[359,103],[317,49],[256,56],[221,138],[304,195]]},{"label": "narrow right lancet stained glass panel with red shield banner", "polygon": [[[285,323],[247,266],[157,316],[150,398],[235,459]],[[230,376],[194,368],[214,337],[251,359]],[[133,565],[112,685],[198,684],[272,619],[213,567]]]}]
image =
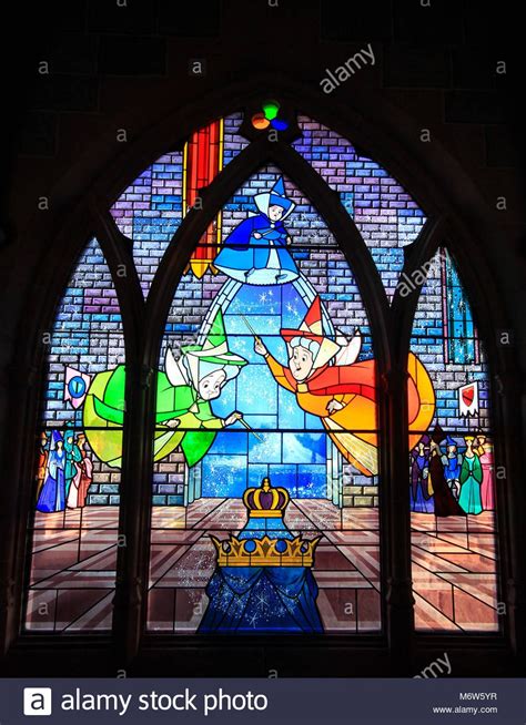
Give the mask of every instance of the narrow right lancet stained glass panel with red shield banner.
[{"label": "narrow right lancet stained glass panel with red shield banner", "polygon": [[[452,315],[461,306],[455,338]],[[461,339],[462,355],[453,353]],[[433,421],[416,445],[412,441],[409,461],[419,630],[498,629],[489,380],[484,355],[475,357],[476,345],[466,293],[449,253],[439,249],[427,270],[411,340],[429,370],[435,396]]]}]

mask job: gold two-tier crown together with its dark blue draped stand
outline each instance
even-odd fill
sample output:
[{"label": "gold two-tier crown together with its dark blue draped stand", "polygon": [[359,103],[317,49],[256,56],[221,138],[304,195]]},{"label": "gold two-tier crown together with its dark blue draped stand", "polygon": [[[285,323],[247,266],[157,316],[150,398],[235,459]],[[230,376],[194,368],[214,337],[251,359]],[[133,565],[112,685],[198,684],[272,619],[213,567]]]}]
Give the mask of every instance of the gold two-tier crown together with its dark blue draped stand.
[{"label": "gold two-tier crown together with its dark blue draped stand", "polygon": [[321,633],[317,584],[311,571],[320,540],[289,531],[286,489],[264,478],[246,489],[249,521],[237,537],[214,542],[218,565],[206,586],[201,634]]}]

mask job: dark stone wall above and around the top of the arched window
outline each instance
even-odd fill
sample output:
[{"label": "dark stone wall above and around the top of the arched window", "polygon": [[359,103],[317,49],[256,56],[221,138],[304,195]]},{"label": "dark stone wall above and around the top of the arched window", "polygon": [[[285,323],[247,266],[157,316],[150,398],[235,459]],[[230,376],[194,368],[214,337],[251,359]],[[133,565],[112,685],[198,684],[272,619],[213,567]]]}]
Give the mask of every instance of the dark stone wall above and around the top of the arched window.
[{"label": "dark stone wall above and around the top of the arched window", "polygon": [[[83,243],[69,238],[64,228],[83,214],[87,195],[104,188],[117,195],[120,180],[131,181],[140,171],[139,165],[125,172],[128,149],[154,136],[172,116],[186,123],[185,109],[205,122],[214,113],[211,99],[218,113],[222,104],[229,111],[241,108],[244,90],[286,88],[314,104],[317,99],[336,118],[340,110],[348,112],[361,142],[371,139],[366,151],[417,198],[443,190],[466,228],[479,235],[476,254],[493,274],[502,302],[498,319],[514,330],[524,372],[518,111],[524,63],[513,32],[518,19],[504,3],[497,11],[475,0],[57,0],[12,10],[13,18],[3,23],[10,43],[2,64],[8,124],[0,226],[4,457],[11,450],[12,389],[31,375],[31,355],[23,367],[18,358],[28,320],[39,312],[31,312],[31,300],[41,298],[42,288],[60,294],[53,290],[53,275],[42,273],[43,263],[51,255],[58,265],[65,259],[71,266]],[[324,94],[320,83],[326,69],[368,43],[375,65]],[[189,72],[195,59],[204,61],[202,76]],[[497,73],[502,61],[505,74]],[[47,74],[39,72],[42,62],[49,63]],[[127,132],[125,144],[118,141],[119,130]],[[422,141],[427,137],[423,130],[429,142]],[[174,127],[173,139],[180,133]],[[384,140],[381,147],[375,137]],[[390,141],[392,156],[382,157]],[[153,145],[144,146],[150,151],[142,166],[151,161]],[[41,197],[49,200],[47,211],[39,210]],[[515,385],[524,400],[519,375]],[[520,430],[512,435],[520,445]]]}]

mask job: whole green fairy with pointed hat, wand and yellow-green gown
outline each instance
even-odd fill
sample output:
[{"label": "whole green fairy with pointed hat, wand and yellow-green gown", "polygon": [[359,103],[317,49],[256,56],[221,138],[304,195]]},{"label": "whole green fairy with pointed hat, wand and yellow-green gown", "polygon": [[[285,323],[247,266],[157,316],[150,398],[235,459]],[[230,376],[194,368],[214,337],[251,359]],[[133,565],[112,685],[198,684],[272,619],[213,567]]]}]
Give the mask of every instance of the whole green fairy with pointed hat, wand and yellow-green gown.
[{"label": "whole green fairy with pointed hat, wand and yellow-green gown", "polygon": [[[168,350],[165,371],[156,375],[154,460],[165,458],[180,447],[186,463],[195,466],[212,446],[216,431],[242,418],[237,411],[219,418],[211,401],[220,397],[226,382],[235,378],[244,365],[244,358],[229,350],[221,310],[203,345],[183,347],[179,360]],[[121,466],[124,391],[123,365],[99,372],[83,410],[90,446],[100,460],[114,468]]]}]

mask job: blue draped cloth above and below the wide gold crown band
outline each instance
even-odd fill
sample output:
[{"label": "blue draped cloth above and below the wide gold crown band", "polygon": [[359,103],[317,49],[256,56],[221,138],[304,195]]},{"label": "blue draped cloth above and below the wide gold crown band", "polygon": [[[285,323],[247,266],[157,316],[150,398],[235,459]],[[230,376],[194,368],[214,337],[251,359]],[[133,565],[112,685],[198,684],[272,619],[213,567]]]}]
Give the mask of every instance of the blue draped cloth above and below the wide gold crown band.
[{"label": "blue draped cloth above and below the wide gold crown band", "polygon": [[[251,519],[239,539],[293,539],[281,519]],[[323,632],[317,584],[306,566],[216,566],[201,634]]]}]

